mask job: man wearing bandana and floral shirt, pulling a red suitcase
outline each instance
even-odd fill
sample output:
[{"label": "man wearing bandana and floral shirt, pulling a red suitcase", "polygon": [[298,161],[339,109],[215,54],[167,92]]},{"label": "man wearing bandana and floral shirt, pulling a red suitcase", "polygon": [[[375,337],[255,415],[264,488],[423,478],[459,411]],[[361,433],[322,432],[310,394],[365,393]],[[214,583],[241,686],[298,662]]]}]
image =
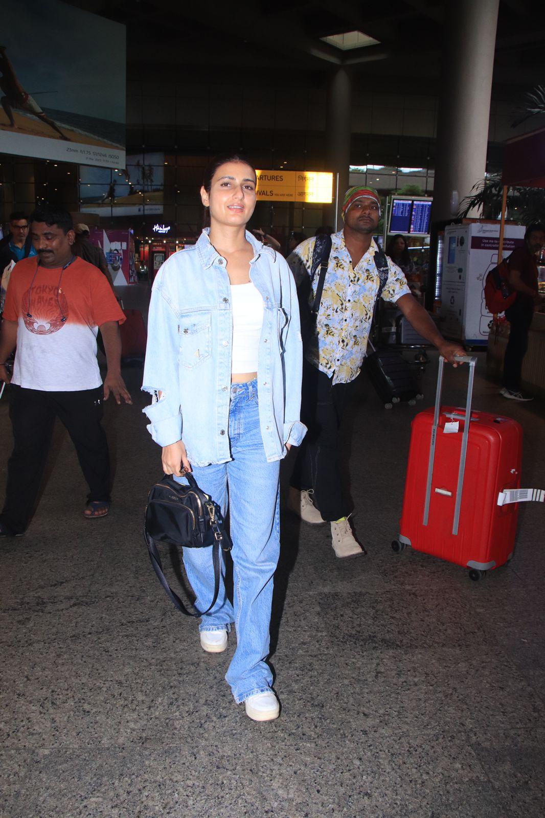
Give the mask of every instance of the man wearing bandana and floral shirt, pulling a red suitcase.
[{"label": "man wearing bandana and floral shirt, pulling a red suitcase", "polygon": [[[381,218],[381,200],[372,187],[351,187],[342,206],[345,225],[331,236],[331,253],[316,330],[305,344],[301,420],[309,432],[299,449],[291,478],[289,505],[307,523],[331,524],[337,557],[365,553],[350,525],[352,508],[340,478],[339,429],[367,352],[380,277],[373,239]],[[310,276],[316,238],[302,242],[287,259],[298,285]],[[387,258],[388,276],[381,296],[408,318],[415,330],[448,362],[464,355],[460,344],[440,334],[426,310],[412,297],[403,272]],[[312,301],[319,269],[311,286]]]}]

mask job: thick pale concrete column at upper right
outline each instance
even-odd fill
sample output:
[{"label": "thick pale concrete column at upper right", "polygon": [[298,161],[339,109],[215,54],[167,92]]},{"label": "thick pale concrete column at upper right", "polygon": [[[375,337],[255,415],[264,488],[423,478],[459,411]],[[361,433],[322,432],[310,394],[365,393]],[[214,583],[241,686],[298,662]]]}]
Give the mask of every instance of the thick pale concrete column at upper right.
[{"label": "thick pale concrete column at upper right", "polygon": [[499,0],[446,3],[434,221],[453,216],[453,191],[462,201],[484,178],[498,4]]}]

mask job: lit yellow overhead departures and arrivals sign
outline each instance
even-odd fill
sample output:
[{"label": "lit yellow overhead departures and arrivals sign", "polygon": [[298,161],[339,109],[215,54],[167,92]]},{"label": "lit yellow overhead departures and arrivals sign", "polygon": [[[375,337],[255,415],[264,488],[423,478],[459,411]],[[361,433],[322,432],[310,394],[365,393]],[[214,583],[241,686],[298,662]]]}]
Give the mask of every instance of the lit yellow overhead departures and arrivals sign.
[{"label": "lit yellow overhead departures and arrivals sign", "polygon": [[333,201],[333,174],[309,170],[258,170],[258,201]]}]

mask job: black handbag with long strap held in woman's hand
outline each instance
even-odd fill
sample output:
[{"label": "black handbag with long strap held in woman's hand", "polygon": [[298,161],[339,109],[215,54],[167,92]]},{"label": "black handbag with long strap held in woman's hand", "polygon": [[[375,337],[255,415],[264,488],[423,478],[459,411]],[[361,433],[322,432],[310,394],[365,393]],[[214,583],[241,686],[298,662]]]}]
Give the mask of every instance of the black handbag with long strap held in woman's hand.
[{"label": "black handbag with long strap held in woman's hand", "polygon": [[[178,610],[187,616],[203,616],[211,610],[218,599],[220,560],[219,551],[231,551],[231,537],[218,503],[201,491],[192,474],[185,475],[188,486],[177,483],[165,474],[151,487],[144,517],[144,538],[151,565],[159,582]],[[166,542],[183,548],[212,548],[214,564],[214,599],[205,611],[188,611],[178,594],[169,586],[160,560],[158,542]]]}]

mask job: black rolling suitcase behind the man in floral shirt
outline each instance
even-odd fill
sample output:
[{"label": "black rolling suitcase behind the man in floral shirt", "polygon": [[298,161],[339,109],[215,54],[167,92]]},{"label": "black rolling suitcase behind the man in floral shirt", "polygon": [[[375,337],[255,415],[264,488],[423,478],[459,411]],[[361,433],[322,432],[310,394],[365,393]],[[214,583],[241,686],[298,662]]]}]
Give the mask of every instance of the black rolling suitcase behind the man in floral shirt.
[{"label": "black rolling suitcase behind the man in floral shirt", "polygon": [[375,349],[368,342],[372,352],[365,359],[365,369],[386,409],[394,403],[408,402],[414,406],[424,396],[420,393],[417,379],[408,362],[395,349]]}]

